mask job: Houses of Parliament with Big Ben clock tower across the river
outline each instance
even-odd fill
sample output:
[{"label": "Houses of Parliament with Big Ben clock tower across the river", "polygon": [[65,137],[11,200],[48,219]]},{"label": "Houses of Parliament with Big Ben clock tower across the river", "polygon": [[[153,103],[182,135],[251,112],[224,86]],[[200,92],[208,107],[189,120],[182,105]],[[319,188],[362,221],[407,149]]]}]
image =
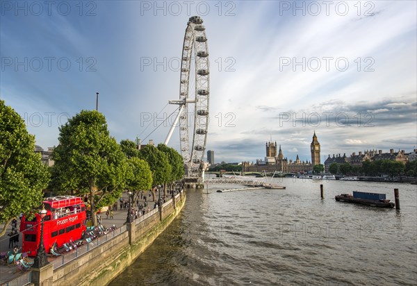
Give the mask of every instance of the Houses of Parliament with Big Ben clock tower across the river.
[{"label": "Houses of Parliament with Big Ben clock tower across the river", "polygon": [[310,144],[311,161],[301,161],[300,158],[289,160],[284,157],[281,145],[277,153],[277,142],[266,142],[265,160],[256,160],[256,164],[250,165],[249,162],[243,162],[243,171],[278,171],[281,173],[302,173],[313,169],[314,165],[320,164],[320,143],[317,140],[316,132],[313,135],[313,141]]}]

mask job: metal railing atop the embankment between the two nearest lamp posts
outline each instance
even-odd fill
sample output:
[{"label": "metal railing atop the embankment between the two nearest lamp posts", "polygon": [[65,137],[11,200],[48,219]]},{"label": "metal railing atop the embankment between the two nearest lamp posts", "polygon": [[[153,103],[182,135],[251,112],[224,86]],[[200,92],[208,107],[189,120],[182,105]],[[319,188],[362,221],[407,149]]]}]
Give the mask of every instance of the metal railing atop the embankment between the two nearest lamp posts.
[{"label": "metal railing atop the embankment between the two nearest lamp posts", "polygon": [[95,249],[97,246],[108,242],[109,240],[121,235],[126,231],[126,226],[121,226],[120,228],[116,228],[111,233],[107,233],[106,235],[102,235],[101,237],[97,237],[97,239],[92,240],[92,242],[88,244],[84,244],[83,246],[79,246],[75,251],[70,251],[68,253],[63,253],[60,255],[58,259],[52,261],[51,263],[54,264],[54,269],[62,267],[63,265],[71,262],[72,260],[78,258],[79,256],[88,253],[92,249]]}]

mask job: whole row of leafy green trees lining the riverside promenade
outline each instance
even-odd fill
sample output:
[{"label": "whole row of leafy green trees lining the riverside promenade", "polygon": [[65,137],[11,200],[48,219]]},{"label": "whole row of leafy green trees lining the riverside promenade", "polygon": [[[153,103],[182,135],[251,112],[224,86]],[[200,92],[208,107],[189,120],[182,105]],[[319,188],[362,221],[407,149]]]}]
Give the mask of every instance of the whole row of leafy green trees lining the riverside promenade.
[{"label": "whole row of leafy green trees lining the riverside promenade", "polygon": [[[139,190],[166,187],[183,178],[177,151],[164,144],[139,151],[130,140],[117,144],[104,115],[95,110],[81,111],[59,131],[59,144],[52,153],[55,165],[48,172],[34,152],[35,138],[26,131],[23,119],[0,101],[0,223],[7,226],[20,212],[38,208],[48,183],[56,194],[88,195],[95,212],[115,203],[124,190],[134,196]],[[97,224],[96,216],[92,219]]]}]

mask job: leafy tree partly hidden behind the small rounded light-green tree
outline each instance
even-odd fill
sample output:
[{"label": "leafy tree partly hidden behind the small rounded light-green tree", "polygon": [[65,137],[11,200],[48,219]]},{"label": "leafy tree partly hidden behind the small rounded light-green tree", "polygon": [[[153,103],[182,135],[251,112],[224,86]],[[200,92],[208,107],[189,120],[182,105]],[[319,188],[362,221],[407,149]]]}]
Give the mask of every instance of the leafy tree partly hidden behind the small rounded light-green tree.
[{"label": "leafy tree partly hidden behind the small rounded light-green tree", "polygon": [[[157,185],[164,185],[170,181],[172,167],[165,153],[159,151],[158,148],[153,145],[146,145],[140,149],[139,156],[141,159],[145,160],[151,168],[152,184],[154,187]],[[152,188],[152,196],[155,201],[154,188]]]}]

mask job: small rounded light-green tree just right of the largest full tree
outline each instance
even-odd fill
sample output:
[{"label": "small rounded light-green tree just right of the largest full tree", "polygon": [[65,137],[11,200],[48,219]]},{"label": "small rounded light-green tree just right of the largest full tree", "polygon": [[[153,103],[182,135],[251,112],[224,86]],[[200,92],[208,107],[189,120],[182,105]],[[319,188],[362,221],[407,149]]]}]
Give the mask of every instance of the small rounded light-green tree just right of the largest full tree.
[{"label": "small rounded light-green tree just right of the largest full tree", "polygon": [[152,187],[152,171],[148,163],[140,158],[129,158],[127,164],[126,190],[132,192],[132,198],[135,201],[138,191],[149,190]]}]

